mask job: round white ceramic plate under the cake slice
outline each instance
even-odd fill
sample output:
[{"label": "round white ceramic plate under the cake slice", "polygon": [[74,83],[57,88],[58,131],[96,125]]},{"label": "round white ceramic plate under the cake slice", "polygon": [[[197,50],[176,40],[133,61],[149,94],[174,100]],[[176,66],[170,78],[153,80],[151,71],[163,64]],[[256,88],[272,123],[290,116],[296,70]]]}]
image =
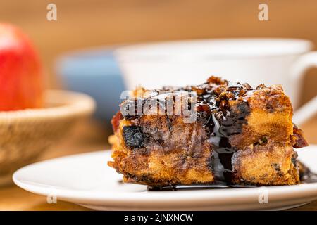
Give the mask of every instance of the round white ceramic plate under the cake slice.
[{"label": "round white ceramic plate under the cake slice", "polygon": [[[298,153],[299,158],[317,172],[317,146],[300,149]],[[317,183],[147,191],[146,186],[120,184],[121,175],[106,165],[108,160],[111,160],[108,150],[56,158],[19,169],[13,174],[13,181],[51,200],[56,197],[94,210],[282,210],[317,199]],[[268,203],[263,203],[265,200]]]}]

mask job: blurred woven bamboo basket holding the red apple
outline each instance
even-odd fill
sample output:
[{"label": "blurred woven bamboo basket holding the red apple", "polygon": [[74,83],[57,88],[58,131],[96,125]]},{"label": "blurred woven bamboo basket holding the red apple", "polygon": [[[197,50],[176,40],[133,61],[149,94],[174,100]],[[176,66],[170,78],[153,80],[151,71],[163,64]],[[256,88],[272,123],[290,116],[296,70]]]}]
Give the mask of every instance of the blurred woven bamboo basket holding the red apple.
[{"label": "blurred woven bamboo basket holding the red apple", "polygon": [[0,186],[13,172],[35,162],[73,125],[94,112],[94,100],[70,91],[46,91],[45,107],[0,112]]}]

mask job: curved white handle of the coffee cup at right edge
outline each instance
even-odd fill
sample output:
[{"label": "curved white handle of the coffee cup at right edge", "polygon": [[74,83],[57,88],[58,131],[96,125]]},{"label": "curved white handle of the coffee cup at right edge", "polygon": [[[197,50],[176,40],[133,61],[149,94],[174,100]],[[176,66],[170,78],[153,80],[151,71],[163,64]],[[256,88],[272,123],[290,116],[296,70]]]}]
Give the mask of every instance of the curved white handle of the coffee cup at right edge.
[{"label": "curved white handle of the coffee cup at right edge", "polygon": [[[296,82],[301,86],[306,70],[312,67],[317,67],[317,51],[311,51],[309,53],[300,56],[297,62],[294,64],[291,70],[292,82]],[[301,108],[294,112],[293,122],[294,124],[302,124],[311,119],[317,113],[317,96],[311,101],[305,103]]]}]

